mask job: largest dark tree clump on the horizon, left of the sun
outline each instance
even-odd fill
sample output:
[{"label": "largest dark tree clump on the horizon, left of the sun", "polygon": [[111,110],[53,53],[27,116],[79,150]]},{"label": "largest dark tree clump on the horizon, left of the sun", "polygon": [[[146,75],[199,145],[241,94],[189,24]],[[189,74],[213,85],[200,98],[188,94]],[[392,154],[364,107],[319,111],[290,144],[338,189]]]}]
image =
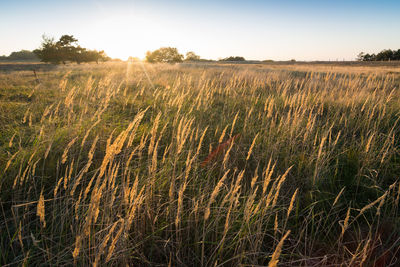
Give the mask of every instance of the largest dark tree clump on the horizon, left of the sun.
[{"label": "largest dark tree clump on the horizon, left of the sun", "polygon": [[104,51],[87,50],[77,45],[78,40],[73,35],[63,35],[60,40],[55,42],[54,38],[43,36],[43,41],[39,49],[33,52],[43,62],[59,64],[62,62],[99,62],[107,61],[109,57]]}]

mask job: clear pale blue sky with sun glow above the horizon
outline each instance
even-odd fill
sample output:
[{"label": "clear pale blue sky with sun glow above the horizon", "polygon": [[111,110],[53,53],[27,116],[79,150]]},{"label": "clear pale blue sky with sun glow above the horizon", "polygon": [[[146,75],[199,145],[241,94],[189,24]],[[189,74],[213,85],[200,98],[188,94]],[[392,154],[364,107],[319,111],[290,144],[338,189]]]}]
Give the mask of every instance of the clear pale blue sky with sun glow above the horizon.
[{"label": "clear pale blue sky with sun glow above the horizon", "polygon": [[0,55],[74,35],[113,58],[354,60],[400,49],[400,0],[0,0]]}]

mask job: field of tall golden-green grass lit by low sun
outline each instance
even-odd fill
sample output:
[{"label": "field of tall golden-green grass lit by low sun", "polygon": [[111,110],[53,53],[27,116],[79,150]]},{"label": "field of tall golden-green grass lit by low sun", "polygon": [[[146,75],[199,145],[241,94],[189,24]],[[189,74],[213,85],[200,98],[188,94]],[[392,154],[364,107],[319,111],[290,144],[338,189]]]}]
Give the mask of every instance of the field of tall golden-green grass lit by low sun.
[{"label": "field of tall golden-green grass lit by low sun", "polygon": [[0,265],[399,266],[400,66],[0,68]]}]

